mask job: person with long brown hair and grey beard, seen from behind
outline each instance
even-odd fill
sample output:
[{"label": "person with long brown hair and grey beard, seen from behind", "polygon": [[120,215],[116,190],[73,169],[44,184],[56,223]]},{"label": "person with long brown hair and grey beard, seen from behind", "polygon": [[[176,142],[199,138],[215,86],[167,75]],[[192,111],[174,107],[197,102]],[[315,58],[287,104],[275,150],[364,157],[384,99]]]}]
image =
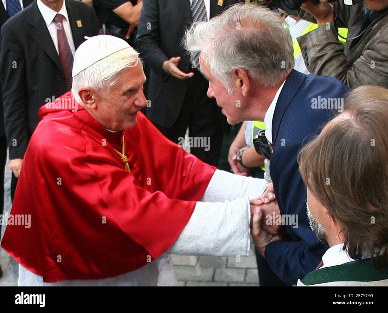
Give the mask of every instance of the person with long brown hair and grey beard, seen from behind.
[{"label": "person with long brown hair and grey beard, seen from behind", "polygon": [[388,90],[361,86],[301,150],[310,227],[329,249],[298,286],[388,286],[387,128]]}]

